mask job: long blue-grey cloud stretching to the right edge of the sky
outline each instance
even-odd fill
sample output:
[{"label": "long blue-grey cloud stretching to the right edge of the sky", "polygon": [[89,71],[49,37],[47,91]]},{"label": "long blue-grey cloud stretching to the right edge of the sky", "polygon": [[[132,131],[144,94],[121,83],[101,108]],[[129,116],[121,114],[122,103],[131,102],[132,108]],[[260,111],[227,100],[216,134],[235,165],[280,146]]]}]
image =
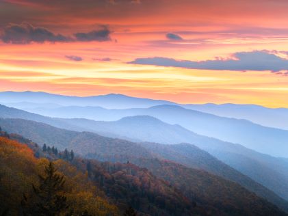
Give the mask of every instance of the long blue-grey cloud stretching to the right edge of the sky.
[{"label": "long blue-grey cloud stretching to the right edge of the sky", "polygon": [[288,70],[288,59],[279,57],[269,51],[239,52],[234,53],[228,59],[218,58],[202,62],[176,60],[166,57],[148,57],[138,58],[129,63],[206,70],[270,70],[272,72]]}]

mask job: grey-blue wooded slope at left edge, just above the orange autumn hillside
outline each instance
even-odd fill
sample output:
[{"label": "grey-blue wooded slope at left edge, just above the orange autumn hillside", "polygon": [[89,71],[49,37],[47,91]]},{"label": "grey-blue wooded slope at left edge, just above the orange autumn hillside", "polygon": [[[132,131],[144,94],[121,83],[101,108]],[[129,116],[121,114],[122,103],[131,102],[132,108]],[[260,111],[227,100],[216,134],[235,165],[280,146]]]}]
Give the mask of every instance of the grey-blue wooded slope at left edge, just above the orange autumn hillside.
[{"label": "grey-blue wooded slope at left edge, just above the orange autumn hillside", "polygon": [[1,128],[8,133],[23,135],[40,144],[50,144],[60,150],[64,148],[86,154],[97,154],[101,157],[116,157],[117,154],[135,155],[135,157],[153,157],[140,144],[124,139],[112,139],[95,133],[68,131],[49,124],[21,119],[0,119]]}]

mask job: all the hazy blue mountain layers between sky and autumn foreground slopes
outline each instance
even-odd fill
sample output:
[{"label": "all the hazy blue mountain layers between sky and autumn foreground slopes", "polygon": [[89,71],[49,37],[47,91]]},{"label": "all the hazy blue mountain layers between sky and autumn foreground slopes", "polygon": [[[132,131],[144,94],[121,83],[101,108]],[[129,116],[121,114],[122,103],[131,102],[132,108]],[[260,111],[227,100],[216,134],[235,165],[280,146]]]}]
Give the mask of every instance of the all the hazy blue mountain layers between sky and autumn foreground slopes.
[{"label": "all the hazy blue mountain layers between sky and autumn foreground slopes", "polygon": [[[1,128],[40,145],[73,149],[88,159],[129,160],[176,185],[180,179],[175,170],[187,172],[185,178],[190,180],[221,182],[219,189],[232,181],[288,211],[288,131],[276,128],[285,128],[286,109],[44,92],[0,92],[0,102],[6,105],[0,105]],[[160,170],[172,169],[172,179],[156,164]],[[202,177],[196,178],[197,174]],[[192,185],[183,182],[177,187]],[[202,187],[198,184],[183,193],[197,193],[208,202],[198,191]],[[214,201],[209,200],[213,208]]]}]

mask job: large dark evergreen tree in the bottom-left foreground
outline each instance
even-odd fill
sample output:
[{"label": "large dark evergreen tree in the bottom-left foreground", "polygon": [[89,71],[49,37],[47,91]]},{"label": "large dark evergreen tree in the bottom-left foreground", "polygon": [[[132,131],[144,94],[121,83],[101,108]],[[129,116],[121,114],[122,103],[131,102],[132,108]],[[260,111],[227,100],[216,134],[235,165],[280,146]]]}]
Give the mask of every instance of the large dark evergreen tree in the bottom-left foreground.
[{"label": "large dark evergreen tree in the bottom-left foreground", "polygon": [[[35,200],[30,201],[24,195],[24,215],[57,216],[68,208],[66,196],[63,195],[64,176],[56,173],[52,162],[45,167],[45,176],[39,175],[39,186],[33,185]],[[28,207],[27,207],[28,206]]]}]

